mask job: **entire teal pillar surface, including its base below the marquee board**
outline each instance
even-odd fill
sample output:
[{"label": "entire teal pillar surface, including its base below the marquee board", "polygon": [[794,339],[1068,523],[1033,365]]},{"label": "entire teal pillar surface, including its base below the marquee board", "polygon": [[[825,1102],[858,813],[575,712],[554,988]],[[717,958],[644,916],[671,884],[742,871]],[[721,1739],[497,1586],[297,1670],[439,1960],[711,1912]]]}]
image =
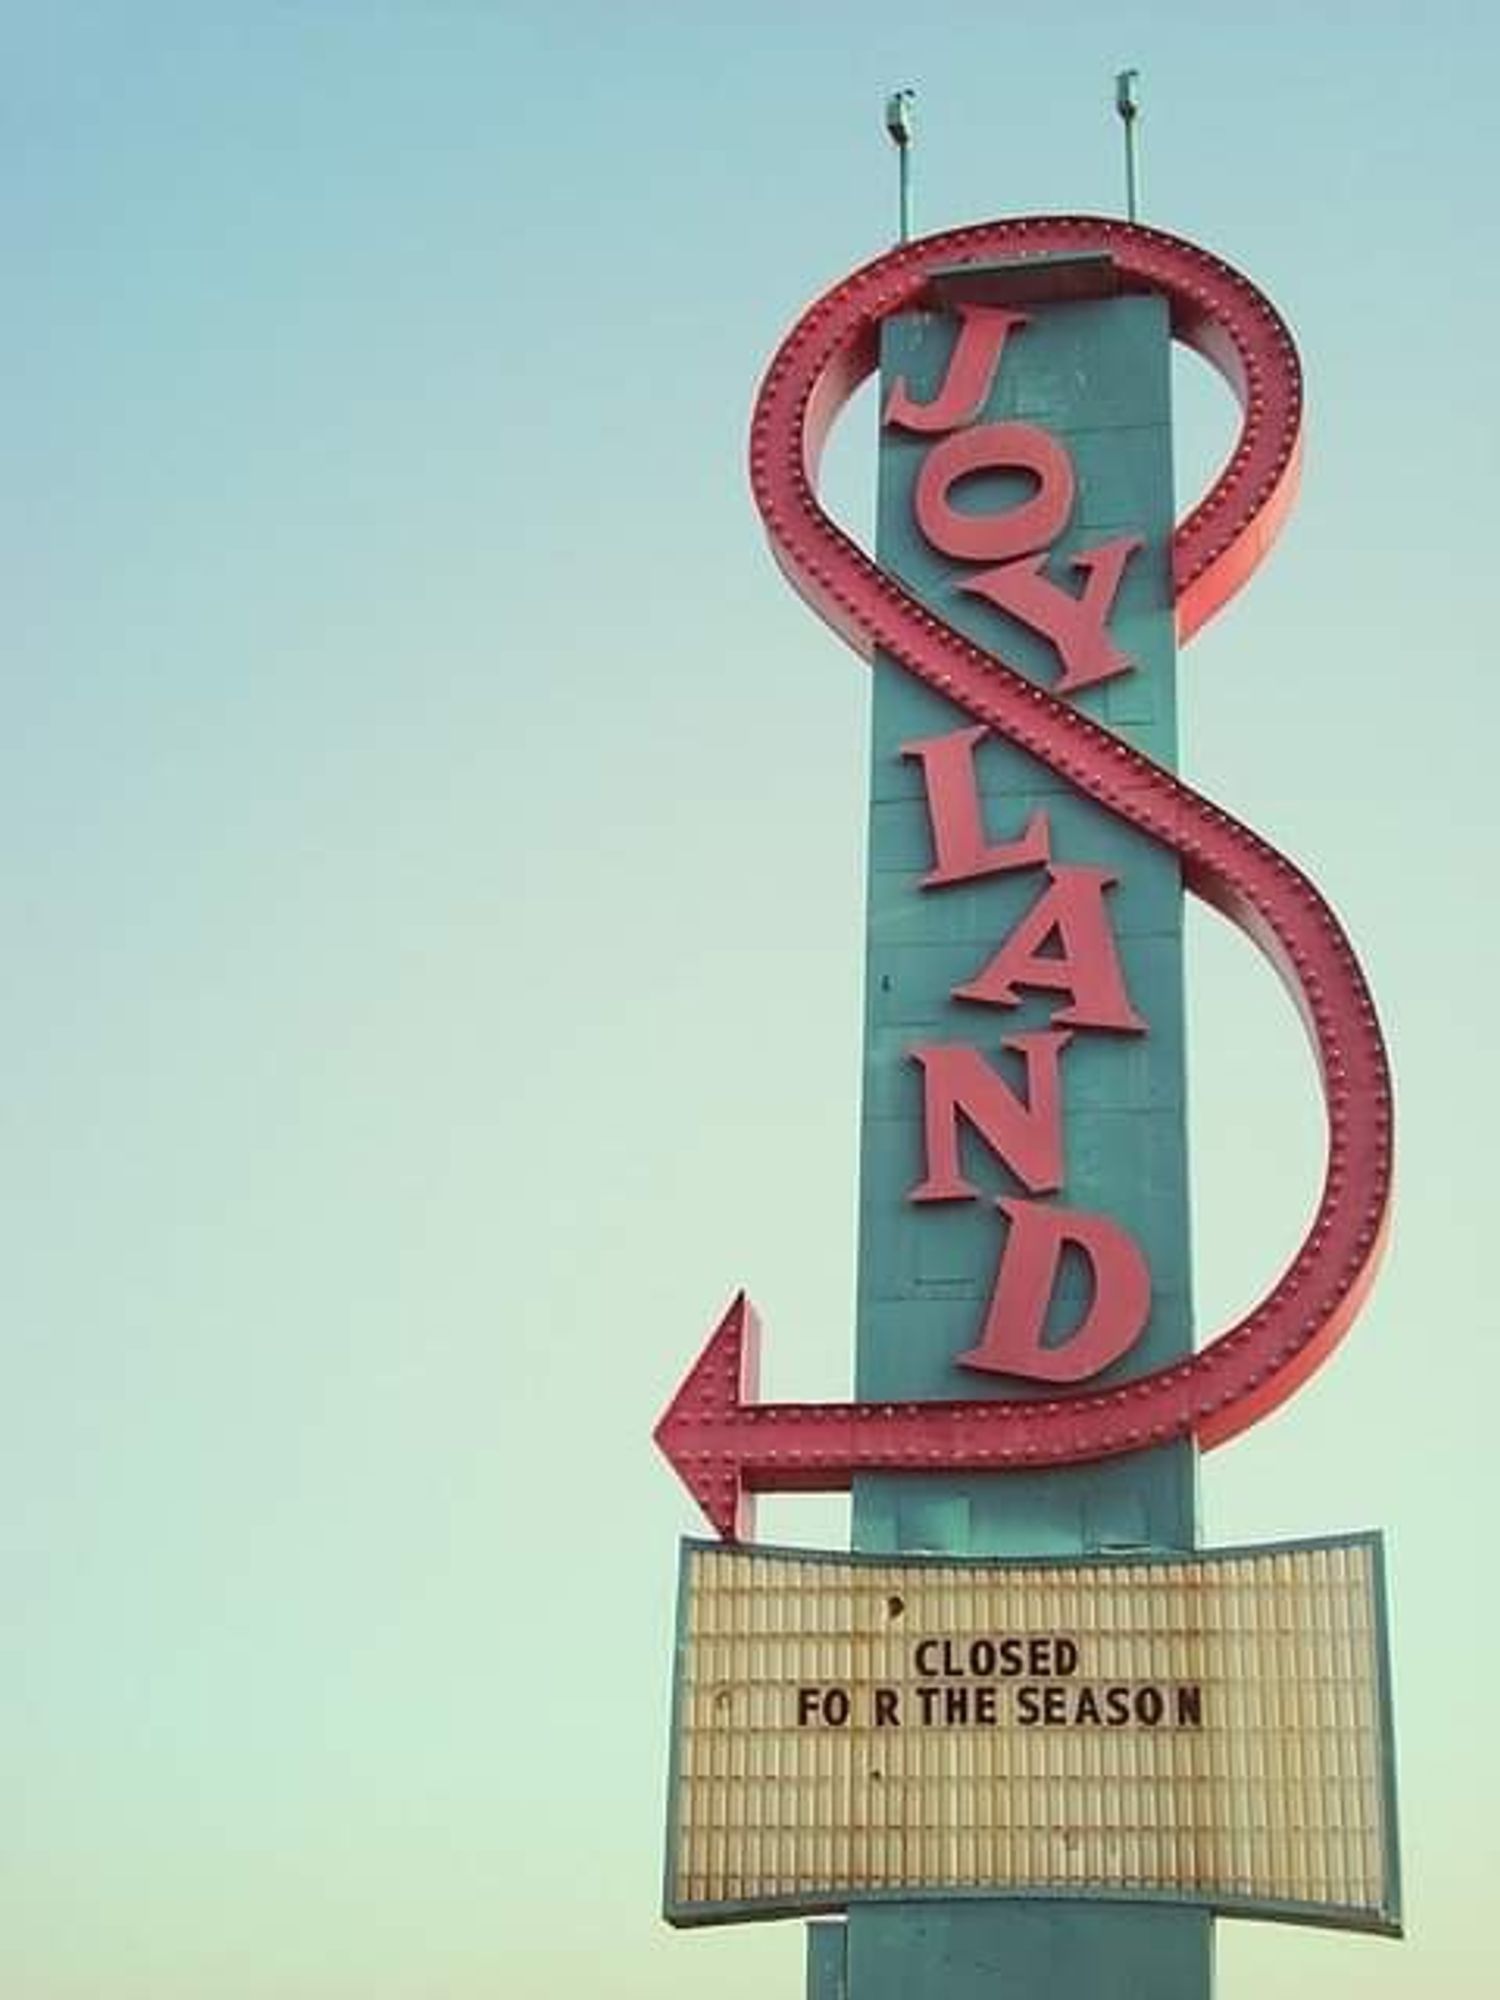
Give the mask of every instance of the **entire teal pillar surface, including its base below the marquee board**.
[{"label": "entire teal pillar surface, including its base below the marquee board", "polygon": [[[1030,420],[1064,440],[1076,470],[1074,516],[1058,556],[1110,534],[1144,534],[1130,560],[1112,634],[1136,662],[1086,688],[1080,708],[1162,764],[1176,766],[1172,624],[1170,334],[1160,298],[1036,306],[1012,336],[986,420]],[[934,394],[954,338],[948,314],[912,314],[882,330],[882,408],[904,376]],[[1046,640],[954,586],[962,564],[918,534],[912,482],[928,438],[894,430],[880,442],[876,548],[950,624],[1052,686]],[[966,482],[962,506],[1020,498],[996,476]],[[1048,996],[1016,1008],[950,998],[1032,902],[1036,880],[998,876],[920,892],[932,866],[922,770],[902,744],[964,728],[968,716],[876,660],[870,750],[866,1044],[860,1158],[856,1394],[952,1398],[1026,1394],[954,1366],[984,1318],[1002,1222],[992,1200],[1022,1194],[986,1146],[964,1138],[964,1174],[984,1200],[914,1208],[920,1180],[920,1076],[912,1042],[968,1042],[994,1054],[1004,1036],[1048,1024]],[[1064,1052],[1066,1178],[1062,1200],[1114,1214],[1152,1270],[1152,1314],[1136,1348],[1102,1384],[1192,1350],[1186,1192],[1182,884],[1176,858],[1068,792],[1024,752],[988,740],[978,752],[986,830],[1020,834],[1044,808],[1054,854],[1118,872],[1110,918],[1126,986],[1146,1036],[1080,1032]],[[1084,1298],[1060,1274],[1050,1330]],[[1078,1554],[1106,1548],[1192,1548],[1198,1540],[1196,1454],[1174,1444],[1134,1458],[1054,1472],[866,1476],[854,1482],[854,1548],[866,1552]],[[1212,1918],[1192,1908],[1088,1902],[854,1902],[848,1916],[850,2000],[1206,2000]]]}]

